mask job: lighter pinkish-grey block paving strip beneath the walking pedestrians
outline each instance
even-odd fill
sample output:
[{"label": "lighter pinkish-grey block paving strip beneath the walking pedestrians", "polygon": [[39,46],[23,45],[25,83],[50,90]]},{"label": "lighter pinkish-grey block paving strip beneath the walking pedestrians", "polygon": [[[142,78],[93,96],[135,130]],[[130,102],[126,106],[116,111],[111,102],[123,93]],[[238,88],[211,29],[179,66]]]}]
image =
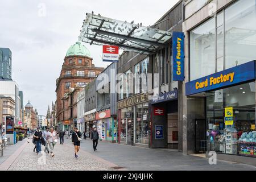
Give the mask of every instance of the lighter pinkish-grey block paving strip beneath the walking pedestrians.
[{"label": "lighter pinkish-grey block paving strip beneath the walking pedestrians", "polygon": [[[42,155],[36,155],[33,152],[34,144],[32,140],[26,144],[16,160],[7,166],[9,171],[100,171],[100,170],[115,170],[117,166],[104,159],[93,156],[85,151],[79,152],[79,158],[74,158],[73,146],[71,143],[55,146],[55,156],[42,152]],[[42,146],[44,150],[44,146]],[[0,165],[1,167],[1,165]]]}]

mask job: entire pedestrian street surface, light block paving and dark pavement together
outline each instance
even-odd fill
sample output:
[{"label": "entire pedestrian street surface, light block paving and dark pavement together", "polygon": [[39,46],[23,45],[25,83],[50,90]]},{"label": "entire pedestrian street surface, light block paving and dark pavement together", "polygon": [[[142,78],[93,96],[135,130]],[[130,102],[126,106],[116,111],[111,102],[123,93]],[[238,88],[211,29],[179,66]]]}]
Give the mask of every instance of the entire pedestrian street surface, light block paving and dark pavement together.
[{"label": "entire pedestrian street surface, light block paving and dark pavement together", "polygon": [[[77,171],[77,170],[256,170],[256,167],[217,161],[209,165],[208,159],[196,156],[184,156],[180,152],[127,146],[109,142],[100,142],[98,151],[94,152],[92,140],[83,140],[79,158],[73,156],[73,146],[69,140],[63,145],[55,146],[55,156],[49,154],[38,156],[32,150],[32,140],[20,143],[18,150],[0,164],[0,170],[19,171]],[[44,147],[42,147],[44,149]]]}]

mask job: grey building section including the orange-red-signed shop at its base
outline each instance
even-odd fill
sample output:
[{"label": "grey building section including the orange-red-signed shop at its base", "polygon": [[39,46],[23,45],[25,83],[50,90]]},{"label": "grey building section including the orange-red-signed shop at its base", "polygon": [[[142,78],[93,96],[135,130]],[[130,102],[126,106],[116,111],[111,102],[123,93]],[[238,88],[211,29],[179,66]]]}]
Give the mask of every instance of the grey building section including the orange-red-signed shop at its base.
[{"label": "grey building section including the orange-red-signed shop at its base", "polygon": [[110,64],[96,78],[96,121],[101,140],[117,142],[117,63]]}]

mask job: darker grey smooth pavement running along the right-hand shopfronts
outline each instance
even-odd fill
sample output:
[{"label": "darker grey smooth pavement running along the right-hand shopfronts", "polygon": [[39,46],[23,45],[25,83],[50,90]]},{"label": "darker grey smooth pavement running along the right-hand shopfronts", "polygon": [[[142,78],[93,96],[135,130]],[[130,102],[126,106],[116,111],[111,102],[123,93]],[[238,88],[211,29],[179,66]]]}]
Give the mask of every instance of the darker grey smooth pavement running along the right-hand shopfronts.
[{"label": "darker grey smooth pavement running along the right-hand shopfronts", "polygon": [[217,165],[210,165],[208,159],[183,155],[180,152],[163,149],[151,149],[109,142],[100,142],[94,152],[92,140],[81,142],[82,150],[105,160],[125,167],[128,170],[256,170],[246,164],[217,160]]}]

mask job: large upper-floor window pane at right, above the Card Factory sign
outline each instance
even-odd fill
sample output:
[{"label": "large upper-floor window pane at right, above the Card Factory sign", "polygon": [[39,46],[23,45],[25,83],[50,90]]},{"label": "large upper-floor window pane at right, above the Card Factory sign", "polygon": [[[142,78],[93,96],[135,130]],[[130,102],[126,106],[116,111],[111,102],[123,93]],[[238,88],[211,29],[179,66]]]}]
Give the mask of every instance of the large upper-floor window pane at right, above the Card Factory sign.
[{"label": "large upper-floor window pane at right, above the Card Factory sign", "polygon": [[255,7],[255,0],[241,0],[225,10],[226,69],[255,60]]}]

